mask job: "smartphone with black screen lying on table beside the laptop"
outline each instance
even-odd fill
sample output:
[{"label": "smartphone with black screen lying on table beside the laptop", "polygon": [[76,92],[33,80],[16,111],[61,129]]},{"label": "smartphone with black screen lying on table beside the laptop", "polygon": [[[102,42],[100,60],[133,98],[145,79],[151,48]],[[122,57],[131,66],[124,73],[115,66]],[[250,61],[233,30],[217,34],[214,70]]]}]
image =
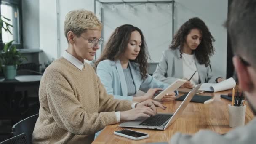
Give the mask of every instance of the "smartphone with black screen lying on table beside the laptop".
[{"label": "smartphone with black screen lying on table beside the laptop", "polygon": [[145,139],[145,138],[149,137],[149,135],[147,133],[141,133],[141,132],[132,131],[129,129],[114,131],[114,134],[116,134],[118,136],[123,136],[123,137],[129,138],[129,139],[133,139],[133,140],[140,140],[140,139]]}]

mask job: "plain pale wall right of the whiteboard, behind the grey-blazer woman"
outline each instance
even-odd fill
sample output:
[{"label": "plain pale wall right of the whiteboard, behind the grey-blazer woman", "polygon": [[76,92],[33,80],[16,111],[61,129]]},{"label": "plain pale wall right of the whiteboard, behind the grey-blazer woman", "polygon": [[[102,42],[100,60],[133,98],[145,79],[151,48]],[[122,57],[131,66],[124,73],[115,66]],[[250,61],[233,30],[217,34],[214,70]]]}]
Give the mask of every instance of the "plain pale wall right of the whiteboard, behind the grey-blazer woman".
[{"label": "plain pale wall right of the whiteboard, behind the grey-blazer woman", "polygon": [[223,27],[227,19],[227,0],[176,0],[175,29],[191,17],[199,17],[208,26],[215,38],[215,54],[211,57],[213,74],[226,77],[227,30]]}]

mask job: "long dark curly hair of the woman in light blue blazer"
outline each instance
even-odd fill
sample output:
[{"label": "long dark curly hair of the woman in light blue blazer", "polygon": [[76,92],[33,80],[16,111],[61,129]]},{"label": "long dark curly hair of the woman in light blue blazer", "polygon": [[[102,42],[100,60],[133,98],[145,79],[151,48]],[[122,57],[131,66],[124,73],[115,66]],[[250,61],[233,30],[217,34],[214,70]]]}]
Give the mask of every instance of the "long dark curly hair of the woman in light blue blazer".
[{"label": "long dark curly hair of the woman in light blue blazer", "polygon": [[119,60],[127,48],[131,33],[134,31],[138,31],[141,35],[141,49],[136,59],[130,61],[138,64],[141,78],[145,80],[147,78],[147,60],[149,59],[147,44],[141,30],[130,24],[124,24],[115,29],[110,36],[101,57],[95,62],[95,67],[97,67],[100,61],[105,59],[109,59],[111,61]]}]

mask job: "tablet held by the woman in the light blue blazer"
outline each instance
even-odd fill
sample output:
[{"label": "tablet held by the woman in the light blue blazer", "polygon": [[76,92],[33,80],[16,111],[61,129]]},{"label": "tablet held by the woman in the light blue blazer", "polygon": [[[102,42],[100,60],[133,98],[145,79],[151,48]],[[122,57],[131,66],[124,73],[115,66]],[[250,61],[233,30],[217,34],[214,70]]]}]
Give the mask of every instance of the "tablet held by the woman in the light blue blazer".
[{"label": "tablet held by the woman in the light blue blazer", "polygon": [[183,85],[184,83],[186,83],[187,80],[182,80],[182,79],[178,79],[176,80],[174,83],[172,83],[171,85],[168,86],[168,88],[166,88],[164,91],[162,91],[161,93],[159,93],[157,96],[155,96],[154,99],[162,99],[163,96],[165,96],[167,93],[172,93],[174,92],[176,89],[178,89],[181,85]]}]

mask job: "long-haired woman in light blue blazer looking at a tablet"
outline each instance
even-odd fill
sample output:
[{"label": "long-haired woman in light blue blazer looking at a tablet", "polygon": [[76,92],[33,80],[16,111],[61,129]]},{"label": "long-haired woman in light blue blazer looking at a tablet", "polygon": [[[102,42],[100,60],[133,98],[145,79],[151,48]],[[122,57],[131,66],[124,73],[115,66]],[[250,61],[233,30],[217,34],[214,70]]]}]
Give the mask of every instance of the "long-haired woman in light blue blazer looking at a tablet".
[{"label": "long-haired woman in light blue blazer looking at a tablet", "polygon": [[[142,102],[169,85],[147,73],[149,54],[143,33],[138,27],[124,24],[110,36],[101,57],[96,61],[97,75],[108,94],[115,99]],[[146,94],[136,96],[141,90]],[[163,101],[171,101],[176,93],[168,93]]]}]

